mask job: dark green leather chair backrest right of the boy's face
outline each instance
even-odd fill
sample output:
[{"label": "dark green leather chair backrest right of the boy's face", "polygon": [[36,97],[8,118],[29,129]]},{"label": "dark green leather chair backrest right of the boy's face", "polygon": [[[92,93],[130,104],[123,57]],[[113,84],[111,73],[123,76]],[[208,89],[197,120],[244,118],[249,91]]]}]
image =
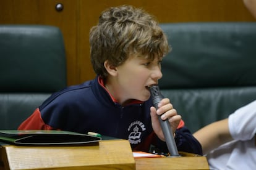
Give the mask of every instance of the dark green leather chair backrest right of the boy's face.
[{"label": "dark green leather chair backrest right of the boy's face", "polygon": [[160,88],[194,132],[256,99],[256,23],[164,23]]}]

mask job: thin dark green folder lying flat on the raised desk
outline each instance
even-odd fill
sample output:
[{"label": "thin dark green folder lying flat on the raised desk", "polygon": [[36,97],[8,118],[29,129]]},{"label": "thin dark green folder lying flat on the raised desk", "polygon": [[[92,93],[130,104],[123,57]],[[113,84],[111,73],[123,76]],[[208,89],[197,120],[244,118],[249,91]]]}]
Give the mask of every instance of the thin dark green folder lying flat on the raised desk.
[{"label": "thin dark green folder lying flat on the raised desk", "polygon": [[101,137],[69,131],[1,130],[0,141],[17,145],[74,145],[99,142]]}]

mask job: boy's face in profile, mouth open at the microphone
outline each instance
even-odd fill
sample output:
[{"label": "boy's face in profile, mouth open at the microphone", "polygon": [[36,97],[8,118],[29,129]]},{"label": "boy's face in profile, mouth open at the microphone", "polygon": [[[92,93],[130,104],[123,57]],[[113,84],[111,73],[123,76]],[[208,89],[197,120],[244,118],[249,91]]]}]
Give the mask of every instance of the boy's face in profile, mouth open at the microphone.
[{"label": "boy's face in profile, mouth open at the microphone", "polygon": [[146,101],[150,97],[149,87],[158,84],[162,57],[145,59],[144,56],[130,55],[122,65],[116,67],[117,99],[124,103],[129,99]]}]

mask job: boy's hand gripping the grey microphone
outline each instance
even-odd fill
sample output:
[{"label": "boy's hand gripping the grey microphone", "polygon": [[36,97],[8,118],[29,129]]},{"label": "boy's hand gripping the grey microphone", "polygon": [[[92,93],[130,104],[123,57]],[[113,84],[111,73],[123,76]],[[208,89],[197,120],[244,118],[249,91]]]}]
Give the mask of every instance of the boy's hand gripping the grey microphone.
[{"label": "boy's hand gripping the grey microphone", "polygon": [[169,124],[171,129],[173,129],[173,133],[176,131],[177,126],[179,126],[179,122],[181,121],[181,115],[177,115],[177,111],[173,108],[173,105],[170,103],[168,98],[165,98],[161,100],[160,103],[158,103],[158,110],[156,110],[155,107],[151,107],[150,115],[153,130],[155,131],[156,135],[163,141],[165,141],[165,139],[158,115],[161,115],[161,119],[163,120],[169,120]]}]

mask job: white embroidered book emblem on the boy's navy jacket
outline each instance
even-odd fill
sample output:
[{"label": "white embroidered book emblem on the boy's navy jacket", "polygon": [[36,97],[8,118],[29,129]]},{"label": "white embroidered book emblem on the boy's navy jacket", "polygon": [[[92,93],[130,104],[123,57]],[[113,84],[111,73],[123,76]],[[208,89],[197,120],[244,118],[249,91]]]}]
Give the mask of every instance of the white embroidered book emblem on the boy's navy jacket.
[{"label": "white embroidered book emblem on the boy's navy jacket", "polygon": [[130,132],[128,140],[130,144],[139,144],[141,142],[142,131],[145,131],[145,125],[141,121],[134,121],[128,127]]}]

